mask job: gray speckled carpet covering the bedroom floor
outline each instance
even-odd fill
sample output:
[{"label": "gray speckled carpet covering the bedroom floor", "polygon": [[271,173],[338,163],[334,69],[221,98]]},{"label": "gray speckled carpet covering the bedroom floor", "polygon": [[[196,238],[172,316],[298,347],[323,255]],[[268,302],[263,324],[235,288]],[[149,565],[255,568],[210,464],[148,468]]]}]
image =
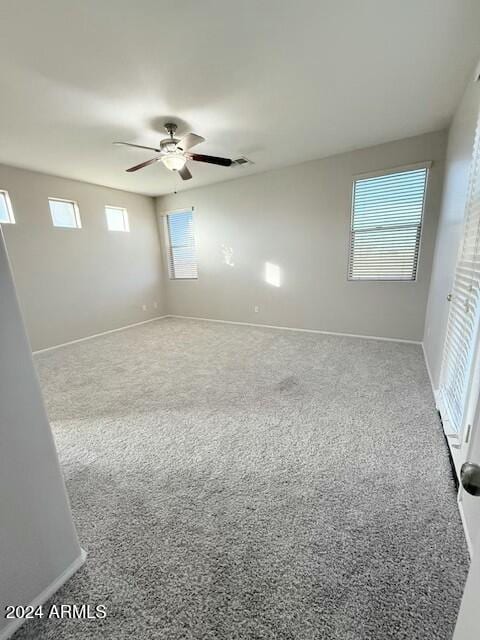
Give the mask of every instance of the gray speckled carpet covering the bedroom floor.
[{"label": "gray speckled carpet covering the bedroom floor", "polygon": [[467,550],[419,346],[168,319],[37,356],[86,565],[15,640],[450,640]]}]

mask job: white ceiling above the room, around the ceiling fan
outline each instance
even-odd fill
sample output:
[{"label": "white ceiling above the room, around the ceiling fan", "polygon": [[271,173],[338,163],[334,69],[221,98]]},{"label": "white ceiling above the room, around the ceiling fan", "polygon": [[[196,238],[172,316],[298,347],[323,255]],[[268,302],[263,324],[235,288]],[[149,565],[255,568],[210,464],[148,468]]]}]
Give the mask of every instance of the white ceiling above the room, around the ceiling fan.
[{"label": "white ceiling above the room, around the ceiling fan", "polygon": [[[448,125],[479,0],[2,0],[0,162],[159,195]],[[253,166],[124,169],[162,124]]]}]

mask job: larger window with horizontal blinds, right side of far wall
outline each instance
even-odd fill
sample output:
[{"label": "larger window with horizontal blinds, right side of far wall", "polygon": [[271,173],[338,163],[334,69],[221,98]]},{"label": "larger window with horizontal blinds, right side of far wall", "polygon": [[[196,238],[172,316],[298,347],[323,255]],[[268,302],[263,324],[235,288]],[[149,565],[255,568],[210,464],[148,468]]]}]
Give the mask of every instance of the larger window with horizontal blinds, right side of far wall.
[{"label": "larger window with horizontal blinds, right side of far wall", "polygon": [[428,166],[354,180],[349,280],[416,280]]}]

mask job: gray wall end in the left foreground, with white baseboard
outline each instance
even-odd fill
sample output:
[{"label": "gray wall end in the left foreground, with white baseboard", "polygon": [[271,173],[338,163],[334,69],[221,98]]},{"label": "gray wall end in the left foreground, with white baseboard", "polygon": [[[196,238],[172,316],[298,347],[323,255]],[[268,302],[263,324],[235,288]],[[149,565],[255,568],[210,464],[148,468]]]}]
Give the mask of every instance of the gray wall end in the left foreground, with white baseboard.
[{"label": "gray wall end in the left foreground, with white baseboard", "polygon": [[[0,231],[0,636],[81,550]],[[11,627],[11,623],[10,623]]]}]

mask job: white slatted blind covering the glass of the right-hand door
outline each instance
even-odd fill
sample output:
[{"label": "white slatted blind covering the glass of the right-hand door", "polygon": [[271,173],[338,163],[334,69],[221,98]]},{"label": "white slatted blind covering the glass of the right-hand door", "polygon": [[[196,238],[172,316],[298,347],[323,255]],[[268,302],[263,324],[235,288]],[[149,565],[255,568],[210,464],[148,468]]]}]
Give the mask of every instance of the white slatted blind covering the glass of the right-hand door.
[{"label": "white slatted blind covering the glass of the right-hand door", "polygon": [[463,238],[449,295],[447,333],[440,374],[442,409],[457,432],[463,429],[472,358],[478,331],[480,285],[480,121],[477,124]]}]

